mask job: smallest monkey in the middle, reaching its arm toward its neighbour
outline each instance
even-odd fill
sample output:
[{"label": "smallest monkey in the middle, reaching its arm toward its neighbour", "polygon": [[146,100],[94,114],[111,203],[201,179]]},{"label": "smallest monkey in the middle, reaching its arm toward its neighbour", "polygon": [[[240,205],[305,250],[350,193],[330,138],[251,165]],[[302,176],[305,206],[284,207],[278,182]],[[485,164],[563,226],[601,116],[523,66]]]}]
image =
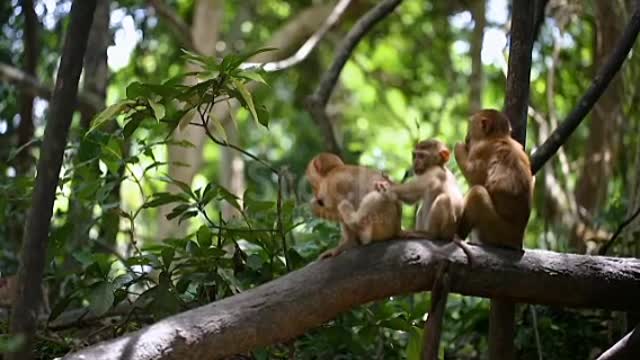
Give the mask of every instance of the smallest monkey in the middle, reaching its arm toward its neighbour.
[{"label": "smallest monkey in the middle, reaching its arm toward its neighbour", "polygon": [[462,216],[462,192],[446,166],[450,154],[442,142],[423,140],[413,151],[413,179],[404,184],[376,183],[378,191],[389,192],[404,203],[422,200],[416,231],[433,240],[453,240]]}]

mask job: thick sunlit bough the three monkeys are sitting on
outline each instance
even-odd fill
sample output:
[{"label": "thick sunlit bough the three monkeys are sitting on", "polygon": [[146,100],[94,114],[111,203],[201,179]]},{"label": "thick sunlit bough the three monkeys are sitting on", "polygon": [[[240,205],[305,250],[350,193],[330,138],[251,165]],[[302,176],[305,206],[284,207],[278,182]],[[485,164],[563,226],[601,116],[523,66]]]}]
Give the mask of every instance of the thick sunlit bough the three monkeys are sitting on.
[{"label": "thick sunlit bough the three monkeys are sitting on", "polygon": [[[640,260],[392,240],[345,252],[64,359],[218,359],[303,334],[341,312],[430,290],[449,263],[451,291],[567,307],[640,309]],[[348,274],[348,276],[345,276]],[[571,291],[567,291],[571,289]]]}]

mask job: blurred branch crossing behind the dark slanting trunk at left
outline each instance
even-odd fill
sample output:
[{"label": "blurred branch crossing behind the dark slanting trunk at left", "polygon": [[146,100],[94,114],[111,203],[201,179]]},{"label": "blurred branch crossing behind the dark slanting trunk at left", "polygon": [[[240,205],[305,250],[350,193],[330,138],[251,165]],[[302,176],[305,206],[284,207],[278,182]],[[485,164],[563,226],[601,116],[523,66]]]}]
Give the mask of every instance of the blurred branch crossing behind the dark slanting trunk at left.
[{"label": "blurred branch crossing behind the dark slanting trunk at left", "polygon": [[[45,100],[50,100],[53,93],[50,86],[42,84],[38,79],[22,70],[4,63],[0,63],[0,81],[14,84],[22,91]],[[104,108],[104,101],[96,94],[80,92],[78,93],[77,106],[83,111],[97,112]]]}]

